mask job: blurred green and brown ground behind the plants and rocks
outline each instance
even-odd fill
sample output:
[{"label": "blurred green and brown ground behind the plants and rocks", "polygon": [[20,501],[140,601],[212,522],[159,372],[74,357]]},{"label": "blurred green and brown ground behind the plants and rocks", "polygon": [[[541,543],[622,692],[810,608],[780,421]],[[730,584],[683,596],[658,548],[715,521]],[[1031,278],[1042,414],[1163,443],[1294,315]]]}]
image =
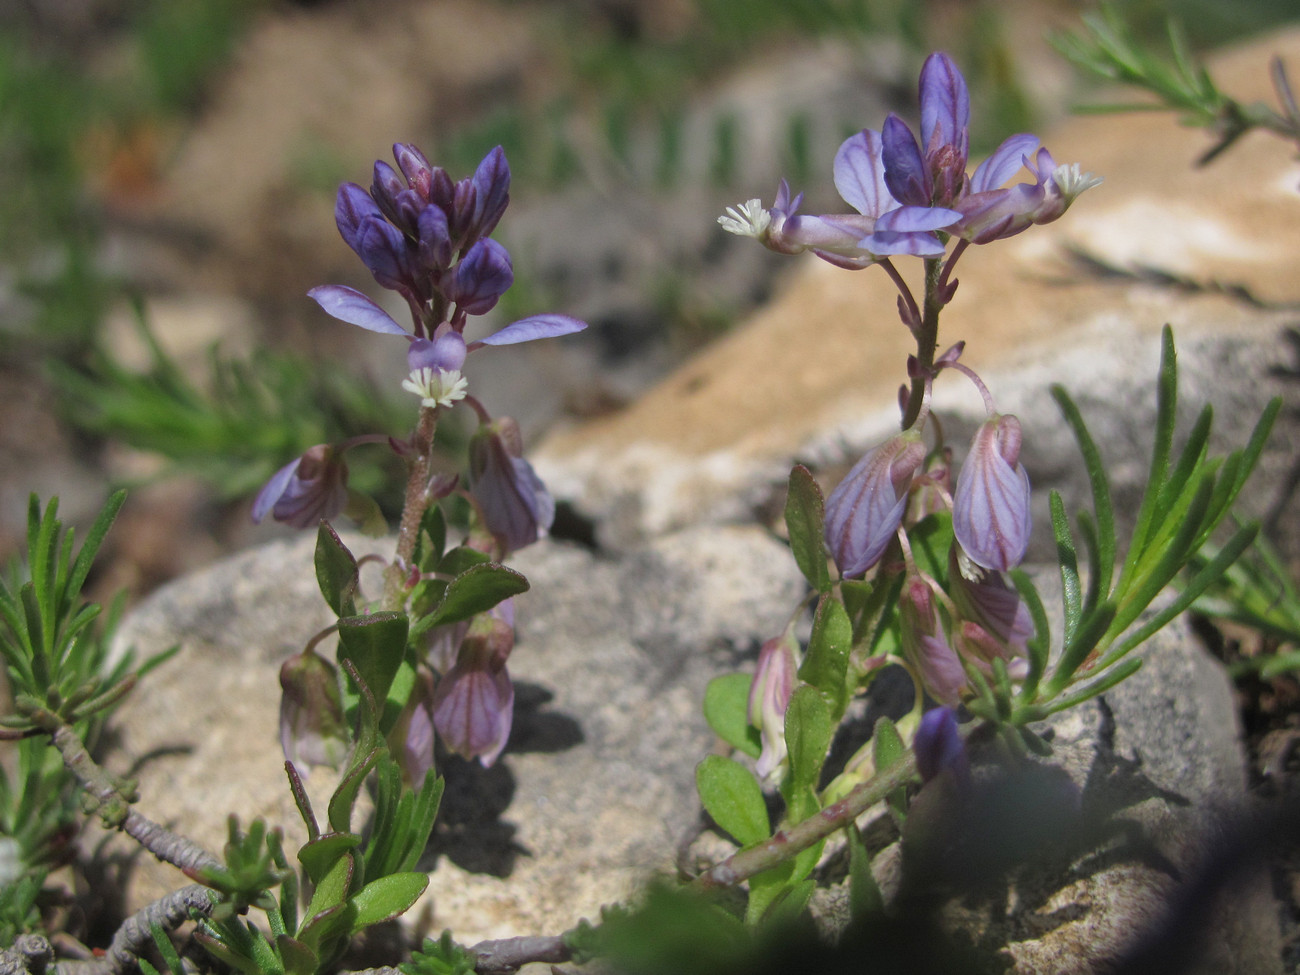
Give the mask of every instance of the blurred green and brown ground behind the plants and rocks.
[{"label": "blurred green and brown ground behind the plants and rocks", "polygon": [[[1130,0],[1193,49],[1294,0]],[[452,178],[495,144],[515,286],[485,328],[592,328],[476,355],[536,442],[616,410],[742,321],[793,263],[728,237],[785,176],[832,208],[840,140],[910,117],[926,53],[972,88],[972,155],[1087,92],[1048,44],[1067,0],[0,0],[0,560],[27,497],[84,523],[131,488],[98,590],[139,595],[274,537],[260,484],[303,448],[402,434],[404,344],[306,298],[386,300],[339,239],[338,185],[412,142]],[[1156,47],[1161,47],[1157,42]],[[393,308],[402,320],[402,312]],[[463,437],[447,429],[445,447]],[[358,486],[385,494],[377,448]],[[391,468],[389,474],[395,473]]]}]

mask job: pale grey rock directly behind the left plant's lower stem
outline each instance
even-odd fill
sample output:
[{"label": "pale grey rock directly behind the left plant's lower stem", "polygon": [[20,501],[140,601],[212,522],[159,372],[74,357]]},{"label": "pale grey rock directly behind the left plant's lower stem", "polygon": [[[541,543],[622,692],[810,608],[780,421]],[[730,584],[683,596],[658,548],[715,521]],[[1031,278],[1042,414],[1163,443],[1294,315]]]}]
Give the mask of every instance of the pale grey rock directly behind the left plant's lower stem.
[{"label": "pale grey rock directly behind the left plant's lower stem", "polygon": [[[272,543],[179,580],[118,637],[142,654],[182,645],[117,712],[114,755],[138,766],[140,811],[209,850],[229,812],[282,824],[290,850],[303,840],[276,677],[329,623],[312,546]],[[490,770],[448,760],[425,863],[432,923],[467,942],[558,933],[672,868],[712,742],[705,685],[779,630],[802,594],[784,546],[753,526],[690,529],[619,560],[542,543],[514,564],[533,589],[516,602],[511,744]],[[318,805],[333,781],[317,770],[308,786]],[[181,880],[140,857],[129,906]]]}]

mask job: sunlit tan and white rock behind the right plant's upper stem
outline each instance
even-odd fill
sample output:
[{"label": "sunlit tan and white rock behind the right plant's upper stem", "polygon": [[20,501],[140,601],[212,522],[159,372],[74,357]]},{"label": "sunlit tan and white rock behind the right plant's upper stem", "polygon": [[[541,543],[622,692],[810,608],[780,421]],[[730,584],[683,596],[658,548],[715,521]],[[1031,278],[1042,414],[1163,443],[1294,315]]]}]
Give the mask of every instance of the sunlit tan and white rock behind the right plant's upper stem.
[{"label": "sunlit tan and white rock behind the right plant's upper stem", "polygon": [[[1295,60],[1300,31],[1210,66],[1225,90],[1265,98],[1274,53]],[[1290,365],[1287,306],[1300,300],[1290,265],[1300,252],[1300,168],[1291,146],[1262,134],[1193,168],[1206,136],[1165,116],[1076,118],[1044,142],[1057,160],[1078,160],[1105,183],[1056,224],[971,248],[940,346],[967,339],[963,361],[984,376],[1000,408],[1020,415],[1039,488],[1078,495],[1083,486],[1045,396],[1045,384],[1060,381],[1088,400],[1118,493],[1131,495],[1144,473],[1161,325],[1171,324],[1179,343],[1184,402],[1216,403],[1222,442],[1242,443],[1266,399],[1284,389],[1271,370]],[[1071,252],[1119,273],[1092,274]],[[915,263],[901,266],[919,287]],[[611,546],[744,519],[793,460],[852,462],[896,429],[896,390],[913,348],[894,302],[879,270],[849,273],[809,256],[772,303],[632,407],[551,436],[538,468]],[[954,377],[942,377],[936,398],[967,425],[982,416],[978,396]],[[1274,434],[1256,511],[1280,499],[1292,422]],[[1052,438],[1057,446],[1045,447]]]}]

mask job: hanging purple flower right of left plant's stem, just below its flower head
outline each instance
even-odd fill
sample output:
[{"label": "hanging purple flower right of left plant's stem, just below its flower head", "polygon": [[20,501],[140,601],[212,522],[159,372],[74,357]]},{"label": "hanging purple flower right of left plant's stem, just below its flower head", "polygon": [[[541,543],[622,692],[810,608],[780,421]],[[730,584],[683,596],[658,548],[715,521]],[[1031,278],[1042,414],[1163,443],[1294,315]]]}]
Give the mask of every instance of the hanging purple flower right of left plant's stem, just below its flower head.
[{"label": "hanging purple flower right of left plant's stem, just below its flower head", "polygon": [[521,455],[519,424],[508,416],[469,441],[469,494],[502,558],[542,538],[555,520],[554,499]]}]

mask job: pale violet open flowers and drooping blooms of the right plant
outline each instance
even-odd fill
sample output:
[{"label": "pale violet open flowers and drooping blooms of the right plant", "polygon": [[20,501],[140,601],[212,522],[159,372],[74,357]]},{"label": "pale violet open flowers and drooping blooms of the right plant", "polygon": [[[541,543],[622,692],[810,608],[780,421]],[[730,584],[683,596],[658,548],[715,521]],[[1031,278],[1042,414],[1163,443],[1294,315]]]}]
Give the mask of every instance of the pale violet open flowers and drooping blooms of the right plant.
[{"label": "pale violet open flowers and drooping blooms of the right plant", "polygon": [[[1028,134],[1004,140],[968,174],[970,96],[950,57],[927,58],[919,94],[919,138],[890,113],[880,130],[863,129],[836,153],[835,186],[854,212],[801,214],[802,195],[792,196],[783,179],[771,207],[749,200],[729,208],[719,224],[780,254],[811,251],[848,269],[880,264],[900,289],[901,317],[918,339],[918,354],[909,360],[913,393],[901,393],[905,429],[868,450],[829,494],[824,542],[844,580],[872,571],[902,575],[900,662],[913,673],[918,707],[923,692],[954,707],[972,693],[972,671],[991,675],[1000,662],[1013,679],[1026,673],[1034,628],[1005,573],[1028,546],[1030,481],[1020,462],[1020,424],[1000,413],[980,378],[961,364],[963,344],[933,358],[937,315],[953,298],[952,269],[967,247],[1056,220],[1100,179],[1076,164],[1057,164]],[[1009,185],[1022,169],[1032,182]],[[894,256],[927,263],[923,304],[893,266]],[[952,451],[941,443],[927,448],[924,441],[932,385],[945,369],[976,385],[987,412],[956,488]],[[945,584],[918,567],[907,540],[910,525],[939,510],[950,511],[954,537]],[[749,701],[749,722],[763,745],[763,777],[772,777],[785,758],[783,719],[797,667],[798,645],[789,632],[763,646]]]}]

